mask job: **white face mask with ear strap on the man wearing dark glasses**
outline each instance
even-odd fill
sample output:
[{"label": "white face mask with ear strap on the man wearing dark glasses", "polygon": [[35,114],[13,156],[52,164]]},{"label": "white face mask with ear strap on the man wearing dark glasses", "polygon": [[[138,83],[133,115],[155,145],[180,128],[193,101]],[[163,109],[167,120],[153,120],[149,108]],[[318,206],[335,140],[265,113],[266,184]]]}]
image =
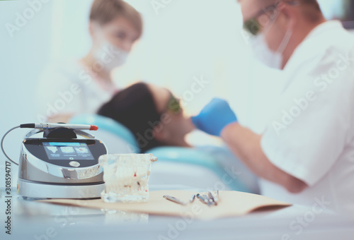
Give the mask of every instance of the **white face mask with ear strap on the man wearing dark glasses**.
[{"label": "white face mask with ear strap on the man wearing dark glasses", "polygon": [[268,66],[270,68],[281,69],[283,60],[282,53],[287,47],[291,36],[292,30],[288,28],[277,51],[273,52],[269,49],[268,44],[265,41],[264,34],[263,32],[261,32],[256,37],[254,37],[253,40],[251,40],[251,48],[253,55],[258,61],[261,61],[261,63],[265,64],[265,66]]}]

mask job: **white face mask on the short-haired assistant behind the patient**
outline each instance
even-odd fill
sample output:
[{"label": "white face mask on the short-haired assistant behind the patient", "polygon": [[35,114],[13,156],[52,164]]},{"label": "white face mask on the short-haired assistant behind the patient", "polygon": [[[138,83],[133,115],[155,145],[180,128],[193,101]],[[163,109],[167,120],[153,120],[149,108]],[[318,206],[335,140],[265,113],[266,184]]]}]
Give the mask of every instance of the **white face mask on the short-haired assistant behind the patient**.
[{"label": "white face mask on the short-haired assistant behind the patient", "polygon": [[113,46],[110,42],[104,40],[93,53],[96,61],[99,61],[103,68],[112,70],[118,66],[122,66],[127,61],[128,52]]}]

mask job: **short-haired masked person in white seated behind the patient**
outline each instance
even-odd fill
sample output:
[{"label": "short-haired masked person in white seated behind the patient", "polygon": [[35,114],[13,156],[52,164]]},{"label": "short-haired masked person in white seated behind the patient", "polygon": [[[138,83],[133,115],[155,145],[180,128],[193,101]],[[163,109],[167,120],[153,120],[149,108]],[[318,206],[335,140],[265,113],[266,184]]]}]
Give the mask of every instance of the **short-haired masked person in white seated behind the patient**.
[{"label": "short-haired masked person in white seated behind the patient", "polygon": [[42,73],[38,121],[68,122],[76,114],[95,114],[118,92],[110,73],[125,64],[142,35],[142,18],[125,1],[95,0],[89,32],[92,47],[84,58],[50,64]]}]

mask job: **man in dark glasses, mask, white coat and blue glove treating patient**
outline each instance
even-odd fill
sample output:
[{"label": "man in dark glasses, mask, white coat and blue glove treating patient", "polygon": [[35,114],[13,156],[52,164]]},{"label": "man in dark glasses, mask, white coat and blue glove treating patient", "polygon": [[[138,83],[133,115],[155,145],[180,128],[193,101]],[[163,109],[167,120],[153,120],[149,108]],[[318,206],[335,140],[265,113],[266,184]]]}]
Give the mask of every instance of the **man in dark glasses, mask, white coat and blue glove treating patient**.
[{"label": "man in dark glasses, mask, white coat and blue glove treating patient", "polygon": [[[354,211],[354,40],[316,0],[240,0],[258,59],[282,69],[273,121],[258,135],[215,99],[193,118],[261,177],[261,193]],[[261,54],[261,55],[260,55]],[[315,208],[314,207],[314,208]]]}]

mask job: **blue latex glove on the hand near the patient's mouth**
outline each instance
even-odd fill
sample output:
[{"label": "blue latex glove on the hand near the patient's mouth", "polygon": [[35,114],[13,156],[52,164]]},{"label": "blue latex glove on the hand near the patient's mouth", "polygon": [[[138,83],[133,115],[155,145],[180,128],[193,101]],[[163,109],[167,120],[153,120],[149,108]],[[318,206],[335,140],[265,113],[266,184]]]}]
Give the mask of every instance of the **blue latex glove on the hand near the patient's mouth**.
[{"label": "blue latex glove on the hand near the patient's mouth", "polygon": [[192,117],[193,124],[210,135],[220,136],[225,126],[237,121],[229,104],[222,99],[214,98],[202,109],[198,116]]}]

